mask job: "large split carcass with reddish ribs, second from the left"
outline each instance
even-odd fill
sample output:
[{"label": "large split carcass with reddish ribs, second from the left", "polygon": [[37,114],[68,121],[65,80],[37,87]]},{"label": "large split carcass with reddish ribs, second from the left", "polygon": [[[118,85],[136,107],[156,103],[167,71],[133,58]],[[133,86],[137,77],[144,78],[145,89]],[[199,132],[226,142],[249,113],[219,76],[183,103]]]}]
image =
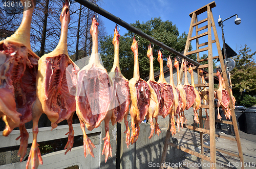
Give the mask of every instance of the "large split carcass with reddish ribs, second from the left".
[{"label": "large split carcass with reddish ribs, second from the left", "polygon": [[38,120],[45,113],[52,122],[52,129],[63,120],[68,120],[68,142],[66,152],[73,147],[74,130],[72,117],[75,112],[75,89],[79,68],[69,58],[67,48],[68,25],[70,21],[69,2],[63,3],[60,14],[61,34],[55,50],[42,56],[38,61],[36,78],[37,99],[33,106],[33,142],[26,168],[37,168],[42,164],[37,144]]}]

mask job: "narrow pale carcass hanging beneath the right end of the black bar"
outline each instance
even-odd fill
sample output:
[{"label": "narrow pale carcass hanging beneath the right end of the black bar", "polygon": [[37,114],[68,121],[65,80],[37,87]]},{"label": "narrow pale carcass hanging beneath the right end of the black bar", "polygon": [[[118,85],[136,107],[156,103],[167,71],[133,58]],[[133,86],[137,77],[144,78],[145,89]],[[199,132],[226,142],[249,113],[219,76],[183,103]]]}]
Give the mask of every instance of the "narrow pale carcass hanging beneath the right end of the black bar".
[{"label": "narrow pale carcass hanging beneath the right end of the black bar", "polygon": [[194,82],[194,71],[191,65],[188,66],[188,72],[191,75],[191,86],[194,87],[195,93],[196,93],[196,100],[193,104],[193,110],[194,110],[194,120],[196,123],[199,123],[199,119],[198,119],[198,113],[197,110],[200,109],[201,107],[201,96],[199,94],[199,91],[196,89],[195,87],[195,82]]}]

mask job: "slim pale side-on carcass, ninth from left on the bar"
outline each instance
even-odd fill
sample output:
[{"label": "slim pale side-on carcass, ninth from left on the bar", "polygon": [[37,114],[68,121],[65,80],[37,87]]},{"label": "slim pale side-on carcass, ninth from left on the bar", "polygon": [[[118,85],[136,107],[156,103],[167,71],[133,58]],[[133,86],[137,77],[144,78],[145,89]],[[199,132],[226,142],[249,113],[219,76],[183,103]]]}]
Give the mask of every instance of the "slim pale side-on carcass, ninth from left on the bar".
[{"label": "slim pale side-on carcass, ninth from left on the bar", "polygon": [[[186,109],[186,102],[187,102],[187,99],[186,99],[186,92],[183,88],[183,85],[181,84],[181,81],[180,81],[180,69],[179,69],[179,61],[175,58],[175,61],[174,61],[174,66],[176,67],[176,70],[177,70],[177,86],[176,88],[179,90],[180,92],[180,97],[181,97],[181,101],[182,103],[179,105],[181,106],[180,108],[180,111],[179,111],[179,116],[180,118],[177,118],[177,126],[178,126],[178,131],[180,130],[180,124],[181,124],[181,127],[183,128],[183,123],[184,123],[184,111]],[[177,90],[177,91],[178,91]],[[185,120],[185,123],[186,123],[186,120]]]}]

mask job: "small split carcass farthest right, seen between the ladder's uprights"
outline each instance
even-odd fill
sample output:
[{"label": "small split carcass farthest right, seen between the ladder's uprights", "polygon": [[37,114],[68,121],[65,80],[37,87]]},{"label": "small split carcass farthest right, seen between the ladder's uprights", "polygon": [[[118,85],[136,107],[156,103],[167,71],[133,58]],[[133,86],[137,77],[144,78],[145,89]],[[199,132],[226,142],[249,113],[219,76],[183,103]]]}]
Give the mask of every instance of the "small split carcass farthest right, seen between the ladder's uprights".
[{"label": "small split carcass farthest right, seen between the ladder's uprights", "polygon": [[[228,108],[228,105],[229,105],[229,95],[228,95],[228,92],[226,89],[223,88],[223,82],[222,82],[222,77],[221,77],[221,73],[220,71],[217,69],[217,73],[216,73],[216,76],[219,78],[219,89],[217,90],[216,92],[216,98],[218,99],[218,103],[217,103],[217,106],[218,106],[218,116],[217,118],[219,120],[221,120],[221,115],[220,115],[220,106],[222,107],[222,110],[225,114],[225,116],[227,115],[227,108]],[[226,116],[227,117],[227,116]]]}]

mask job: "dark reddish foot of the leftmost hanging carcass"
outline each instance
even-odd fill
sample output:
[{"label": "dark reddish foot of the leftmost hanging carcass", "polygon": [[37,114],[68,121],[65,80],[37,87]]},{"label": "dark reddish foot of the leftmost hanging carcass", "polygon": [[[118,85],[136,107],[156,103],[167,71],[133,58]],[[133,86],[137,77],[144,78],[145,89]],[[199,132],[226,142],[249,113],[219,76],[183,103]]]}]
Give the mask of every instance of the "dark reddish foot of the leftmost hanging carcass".
[{"label": "dark reddish foot of the leftmost hanging carcass", "polygon": [[20,157],[20,162],[22,162],[24,156],[27,153],[29,133],[28,133],[25,125],[19,126],[19,131],[20,131],[20,136],[18,136],[16,138],[16,140],[18,140],[20,138],[18,157]]}]

